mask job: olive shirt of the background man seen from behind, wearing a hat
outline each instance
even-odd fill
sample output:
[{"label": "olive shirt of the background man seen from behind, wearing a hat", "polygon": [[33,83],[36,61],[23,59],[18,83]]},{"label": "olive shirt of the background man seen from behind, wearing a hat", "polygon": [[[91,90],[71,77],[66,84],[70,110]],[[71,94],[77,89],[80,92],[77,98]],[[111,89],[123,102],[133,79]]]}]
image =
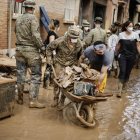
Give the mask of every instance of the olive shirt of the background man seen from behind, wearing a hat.
[{"label": "olive shirt of the background man seen from behind, wearing a hat", "polygon": [[90,46],[96,41],[102,41],[104,43],[107,43],[106,32],[102,28],[92,29],[84,41],[87,46]]}]

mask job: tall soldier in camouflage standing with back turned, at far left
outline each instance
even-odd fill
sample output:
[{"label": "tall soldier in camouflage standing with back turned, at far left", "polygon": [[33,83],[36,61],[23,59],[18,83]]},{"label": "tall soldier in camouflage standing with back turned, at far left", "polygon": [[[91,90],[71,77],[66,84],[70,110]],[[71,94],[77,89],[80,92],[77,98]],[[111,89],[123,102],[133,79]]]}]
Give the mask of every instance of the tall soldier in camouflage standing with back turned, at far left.
[{"label": "tall soldier in camouflage standing with back turned, at far left", "polygon": [[27,68],[31,70],[30,103],[29,107],[44,108],[38,102],[39,87],[41,83],[41,57],[40,50],[43,43],[39,33],[39,24],[35,15],[34,0],[24,1],[25,13],[16,21],[16,64],[17,64],[17,103],[23,104],[23,89]]}]

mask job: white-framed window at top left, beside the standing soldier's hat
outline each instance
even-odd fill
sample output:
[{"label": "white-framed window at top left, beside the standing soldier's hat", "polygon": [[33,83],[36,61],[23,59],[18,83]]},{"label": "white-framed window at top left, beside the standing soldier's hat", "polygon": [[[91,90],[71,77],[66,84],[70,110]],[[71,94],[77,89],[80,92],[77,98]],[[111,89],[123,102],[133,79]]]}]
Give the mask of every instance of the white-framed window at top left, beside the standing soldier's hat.
[{"label": "white-framed window at top left, beside the standing soldier's hat", "polygon": [[16,19],[19,15],[24,13],[24,8],[22,7],[22,5],[23,3],[12,0],[13,19]]}]

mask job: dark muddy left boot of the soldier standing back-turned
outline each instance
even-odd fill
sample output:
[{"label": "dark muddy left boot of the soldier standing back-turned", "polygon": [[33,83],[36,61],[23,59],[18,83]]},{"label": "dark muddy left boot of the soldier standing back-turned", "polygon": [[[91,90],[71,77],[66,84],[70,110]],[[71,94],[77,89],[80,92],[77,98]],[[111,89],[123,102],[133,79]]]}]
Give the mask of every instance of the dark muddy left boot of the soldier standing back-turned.
[{"label": "dark muddy left boot of the soldier standing back-turned", "polygon": [[23,105],[23,90],[24,90],[24,84],[17,84],[17,103],[20,105]]}]

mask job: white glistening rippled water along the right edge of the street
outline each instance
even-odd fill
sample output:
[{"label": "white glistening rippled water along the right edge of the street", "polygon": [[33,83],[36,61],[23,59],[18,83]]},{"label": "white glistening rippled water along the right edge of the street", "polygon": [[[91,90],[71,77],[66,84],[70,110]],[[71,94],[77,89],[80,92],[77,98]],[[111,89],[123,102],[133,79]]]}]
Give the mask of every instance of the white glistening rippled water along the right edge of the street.
[{"label": "white glistening rippled water along the right edge of the street", "polygon": [[140,139],[140,77],[133,80],[128,89],[128,105],[124,110],[122,121],[123,133],[114,139]]}]

